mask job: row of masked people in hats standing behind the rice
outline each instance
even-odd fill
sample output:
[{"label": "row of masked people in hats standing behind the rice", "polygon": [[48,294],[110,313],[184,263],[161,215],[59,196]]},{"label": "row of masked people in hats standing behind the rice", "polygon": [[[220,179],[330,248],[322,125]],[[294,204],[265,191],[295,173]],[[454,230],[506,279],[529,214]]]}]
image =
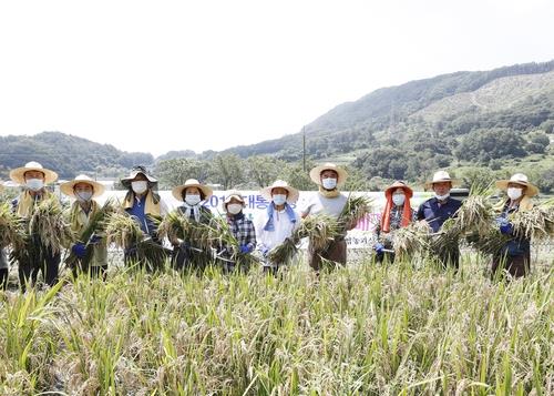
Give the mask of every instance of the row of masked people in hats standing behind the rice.
[{"label": "row of masked people in hats standing behind the rice", "polygon": [[[264,271],[276,274],[287,263],[271,262],[268,253],[289,238],[304,219],[325,213],[338,217],[348,196],[341,193],[347,180],[347,172],[340,166],[331,163],[314,167],[310,179],[318,185],[317,194],[298,212],[294,209],[298,201],[299,192],[285,181],[276,181],[271,185],[261,189],[260,194],[269,201],[267,210],[250,220],[244,213],[245,200],[239,191],[227,192],[223,202],[223,212],[228,232],[232,233],[237,244],[234,246],[222,246],[217,256],[196,246],[194,240],[173,240],[171,250],[171,262],[176,270],[196,268],[202,270],[207,264],[218,262],[225,272],[235,270],[235,254],[256,254],[260,257]],[[45,199],[55,199],[47,189],[48,184],[58,179],[58,174],[43,167],[38,162],[29,162],[22,167],[10,172],[10,179],[22,186],[19,196],[12,202],[14,213],[22,219],[28,219],[34,207]],[[440,232],[448,219],[456,215],[461,202],[450,196],[450,191],[455,181],[448,172],[439,171],[427,187],[434,192],[434,196],[424,201],[418,209],[413,209],[410,199],[413,191],[401,181],[394,182],[384,191],[386,205],[380,223],[376,227],[377,243],[373,246],[377,261],[392,262],[394,260],[394,246],[392,240],[387,237],[394,231],[408,226],[413,222],[427,222],[433,233]],[[120,211],[131,216],[141,227],[144,237],[152,238],[157,244],[163,244],[157,235],[156,219],[163,219],[167,214],[167,205],[157,193],[157,180],[153,177],[145,167],[137,166],[129,176],[121,180],[126,189],[126,194],[119,203]],[[504,190],[507,197],[499,206],[500,231],[512,238],[494,257],[492,270],[505,268],[513,276],[523,276],[530,271],[530,241],[529,238],[512,234],[510,216],[516,211],[526,211],[532,207],[531,197],[537,194],[537,189],[527,181],[524,174],[514,174],[510,180],[496,182],[497,187]],[[104,193],[104,186],[91,177],[81,174],[72,181],[62,183],[60,190],[74,202],[66,210],[66,219],[71,230],[78,234],[88,226],[90,220],[100,210],[96,197]],[[182,204],[176,209],[178,215],[191,222],[211,224],[214,215],[205,206],[205,202],[213,194],[208,185],[189,179],[183,185],[172,191],[173,196]],[[351,230],[356,224],[348,224]],[[335,236],[324,252],[308,246],[308,263],[311,268],[319,271],[325,262],[334,262],[345,265],[347,262],[346,232]],[[44,283],[53,285],[59,278],[61,252],[52,251],[43,244],[39,235],[29,235],[34,248],[40,251],[38,262],[19,262],[19,281],[22,287],[28,283],[35,283],[39,273],[42,273]],[[88,271],[91,276],[104,277],[107,270],[107,241],[102,233],[92,233],[88,241],[73,242],[68,250],[76,257],[82,258],[86,254],[86,247],[93,246],[93,257]],[[238,247],[237,247],[238,246]],[[0,256],[0,283],[6,287],[8,283],[9,263],[7,258],[7,246],[3,246]],[[239,252],[235,252],[238,250]],[[143,257],[134,246],[124,251],[124,262],[136,263]],[[460,265],[460,251],[458,246],[447,250],[438,257],[444,266]],[[501,266],[503,265],[503,266]]]}]

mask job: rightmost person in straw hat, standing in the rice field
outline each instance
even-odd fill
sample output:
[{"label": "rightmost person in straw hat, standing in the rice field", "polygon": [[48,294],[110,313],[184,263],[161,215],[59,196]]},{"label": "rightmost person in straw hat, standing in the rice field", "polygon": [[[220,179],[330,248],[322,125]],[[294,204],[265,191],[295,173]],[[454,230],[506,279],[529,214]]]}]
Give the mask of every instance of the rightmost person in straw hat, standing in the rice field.
[{"label": "rightmost person in straw hat, standing in the rice field", "polygon": [[531,240],[524,235],[515,235],[510,217],[516,212],[533,209],[532,196],[538,194],[538,189],[529,182],[523,173],[515,173],[509,180],[499,180],[496,187],[505,191],[507,199],[500,202],[495,209],[500,232],[511,238],[504,243],[492,260],[492,275],[500,270],[506,270],[513,277],[529,274],[531,268]]}]

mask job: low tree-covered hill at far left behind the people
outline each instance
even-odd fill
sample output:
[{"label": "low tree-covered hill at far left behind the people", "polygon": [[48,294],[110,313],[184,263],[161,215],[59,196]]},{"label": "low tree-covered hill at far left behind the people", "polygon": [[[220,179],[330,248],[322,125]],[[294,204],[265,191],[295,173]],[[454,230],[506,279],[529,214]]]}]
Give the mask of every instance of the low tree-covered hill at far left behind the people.
[{"label": "low tree-covered hill at far left behind the people", "polygon": [[52,169],[60,177],[78,173],[120,175],[136,164],[152,164],[148,153],[130,153],[110,144],[60,133],[42,132],[32,136],[0,136],[0,173],[6,179],[13,167],[38,161]]}]

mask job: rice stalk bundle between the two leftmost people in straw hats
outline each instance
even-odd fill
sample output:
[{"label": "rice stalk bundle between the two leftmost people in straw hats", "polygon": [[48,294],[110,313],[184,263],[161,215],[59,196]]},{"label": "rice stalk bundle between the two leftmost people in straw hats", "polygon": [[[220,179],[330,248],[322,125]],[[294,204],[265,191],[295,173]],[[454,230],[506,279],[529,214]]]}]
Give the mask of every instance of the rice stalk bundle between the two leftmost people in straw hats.
[{"label": "rice stalk bundle between the two leftmost people in straw hats", "polygon": [[41,245],[54,254],[73,242],[73,232],[55,196],[47,197],[34,207],[29,221],[29,235],[37,236]]}]

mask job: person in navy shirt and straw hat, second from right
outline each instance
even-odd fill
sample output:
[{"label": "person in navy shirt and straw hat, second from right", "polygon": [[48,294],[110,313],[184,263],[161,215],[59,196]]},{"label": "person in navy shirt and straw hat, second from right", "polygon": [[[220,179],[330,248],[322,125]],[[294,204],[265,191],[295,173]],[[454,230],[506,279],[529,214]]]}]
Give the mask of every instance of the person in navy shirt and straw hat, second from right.
[{"label": "person in navy shirt and straw hat, second from right", "polygon": [[[438,171],[433,174],[433,180],[425,183],[425,190],[432,190],[434,196],[423,202],[417,213],[417,220],[425,221],[432,232],[439,233],[442,224],[448,219],[454,217],[462,203],[450,197],[452,185],[458,181],[450,177],[447,171]],[[445,268],[452,265],[458,270],[460,266],[460,247],[453,244],[450,248],[437,256],[439,262]]]}]

